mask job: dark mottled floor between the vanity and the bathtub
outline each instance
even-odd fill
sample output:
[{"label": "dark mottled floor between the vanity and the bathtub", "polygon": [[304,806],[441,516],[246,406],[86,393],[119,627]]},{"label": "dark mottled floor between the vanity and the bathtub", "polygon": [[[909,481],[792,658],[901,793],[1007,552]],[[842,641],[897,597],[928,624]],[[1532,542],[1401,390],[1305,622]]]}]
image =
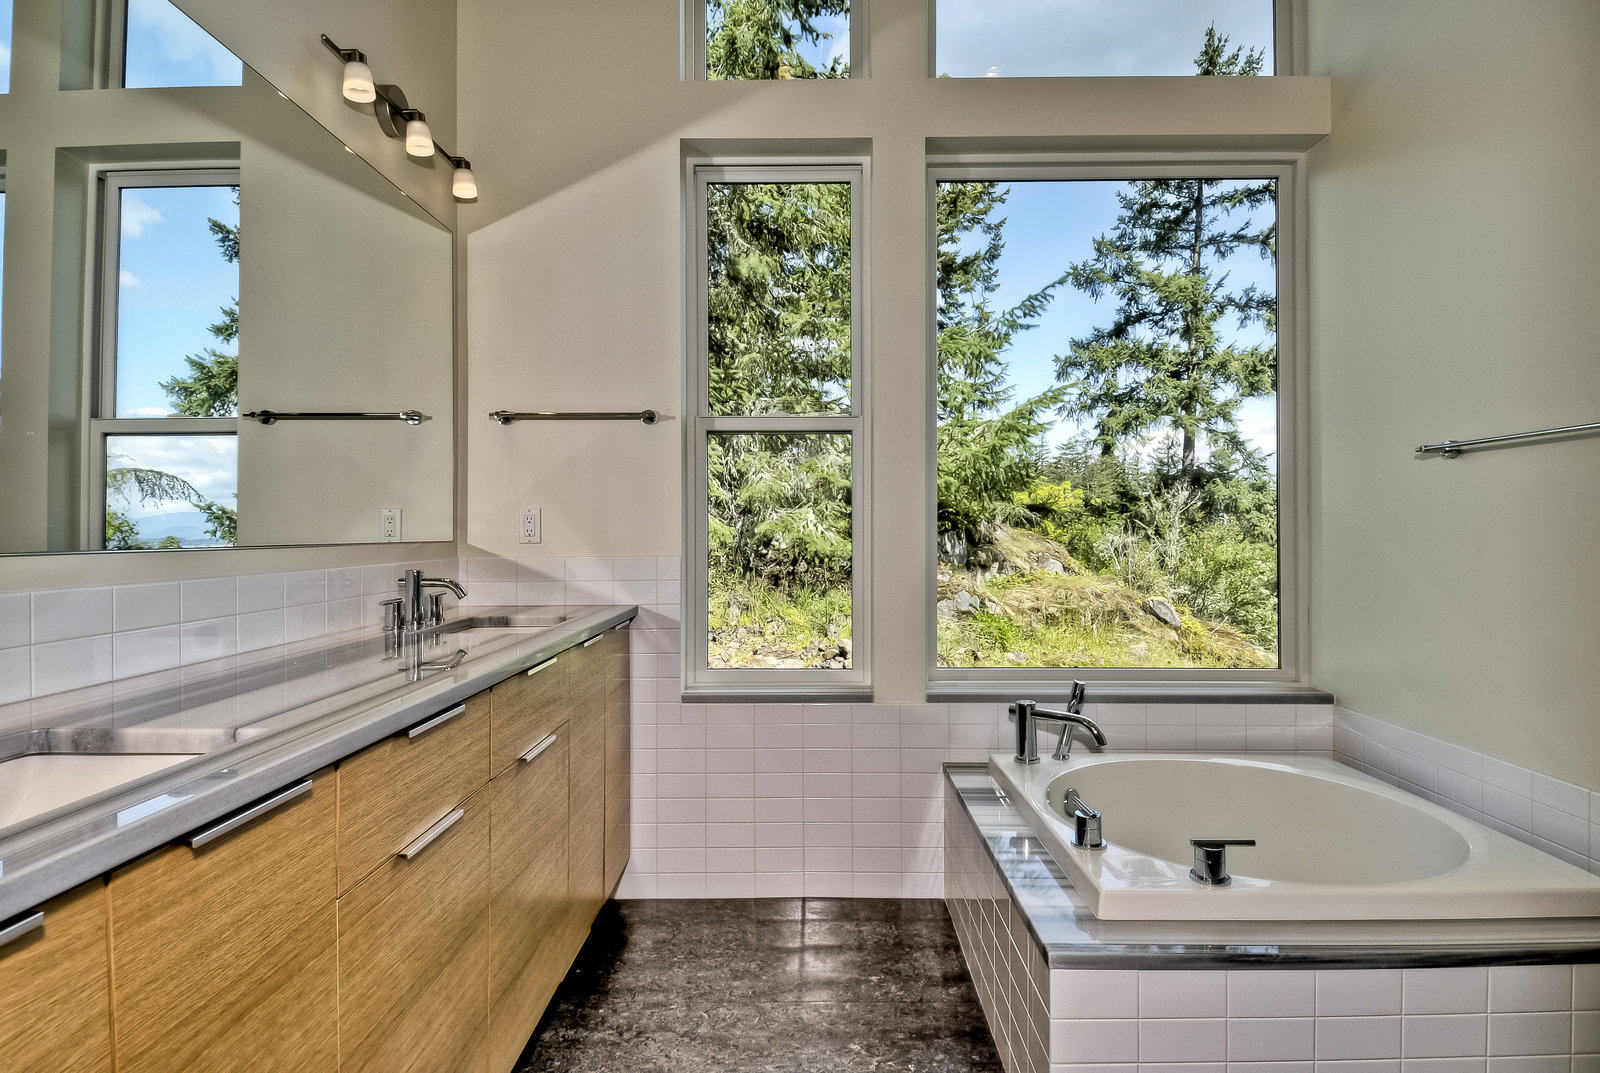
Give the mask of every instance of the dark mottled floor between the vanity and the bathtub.
[{"label": "dark mottled floor between the vanity and the bathtub", "polygon": [[517,1073],[1000,1073],[944,903],[610,902]]}]

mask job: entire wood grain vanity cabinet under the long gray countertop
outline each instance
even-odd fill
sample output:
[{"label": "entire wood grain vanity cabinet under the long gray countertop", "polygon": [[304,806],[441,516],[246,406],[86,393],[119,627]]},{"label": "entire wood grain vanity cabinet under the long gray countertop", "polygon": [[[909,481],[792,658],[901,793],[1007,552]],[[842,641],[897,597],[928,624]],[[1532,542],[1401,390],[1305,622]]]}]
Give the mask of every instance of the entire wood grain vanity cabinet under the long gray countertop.
[{"label": "entire wood grain vanity cabinet under the long gray countertop", "polygon": [[629,854],[610,630],[0,921],[6,1073],[509,1073]]}]

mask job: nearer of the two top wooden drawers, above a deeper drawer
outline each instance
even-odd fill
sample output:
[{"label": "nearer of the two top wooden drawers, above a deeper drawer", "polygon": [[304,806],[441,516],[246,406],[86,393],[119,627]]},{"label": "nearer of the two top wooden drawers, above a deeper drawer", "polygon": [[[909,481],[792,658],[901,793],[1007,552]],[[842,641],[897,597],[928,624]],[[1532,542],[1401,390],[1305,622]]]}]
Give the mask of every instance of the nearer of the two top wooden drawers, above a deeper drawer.
[{"label": "nearer of the two top wooden drawers, above a deeper drawer", "polygon": [[339,761],[341,895],[488,782],[488,702],[480,692],[434,729],[424,720],[416,737],[395,734]]}]

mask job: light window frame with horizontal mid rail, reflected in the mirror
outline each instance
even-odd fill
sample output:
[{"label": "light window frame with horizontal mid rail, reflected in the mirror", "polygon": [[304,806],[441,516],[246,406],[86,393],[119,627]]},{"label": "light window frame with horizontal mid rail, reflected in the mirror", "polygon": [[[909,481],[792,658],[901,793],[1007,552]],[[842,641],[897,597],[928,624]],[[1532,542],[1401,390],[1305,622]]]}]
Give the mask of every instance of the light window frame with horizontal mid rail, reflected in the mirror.
[{"label": "light window frame with horizontal mid rail, reflected in the mirror", "polygon": [[[85,349],[83,465],[82,465],[82,547],[106,548],[106,449],[110,437],[200,437],[238,438],[240,419],[234,417],[117,417],[117,304],[122,270],[122,192],[149,187],[226,185],[242,189],[238,162],[190,162],[101,166],[90,184],[90,261],[93,294],[90,341]],[[109,416],[107,416],[109,414]]]}]

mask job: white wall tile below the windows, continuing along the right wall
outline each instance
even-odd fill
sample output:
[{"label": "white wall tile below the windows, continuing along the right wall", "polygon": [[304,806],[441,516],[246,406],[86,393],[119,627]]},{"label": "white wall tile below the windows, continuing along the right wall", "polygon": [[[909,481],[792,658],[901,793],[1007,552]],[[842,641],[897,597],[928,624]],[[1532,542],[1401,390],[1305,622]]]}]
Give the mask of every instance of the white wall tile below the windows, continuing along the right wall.
[{"label": "white wall tile below the windows, continuing along the right wall", "polygon": [[[467,604],[638,604],[634,856],[622,897],[939,897],[941,764],[1013,748],[1003,704],[682,704],[675,555],[467,556],[458,569]],[[1114,752],[1293,752],[1358,768],[1371,761],[1363,768],[1370,774],[1398,779],[1381,768],[1395,753],[1360,753],[1368,728],[1384,744],[1378,721],[1331,705],[1091,702],[1085,710],[1106,726]],[[1413,737],[1403,740],[1426,752]],[[1437,771],[1448,748],[1437,744],[1426,761],[1435,768],[1435,787],[1459,782]],[[1416,758],[1406,756],[1405,771],[1426,782]],[[1499,768],[1483,758],[1478,771]],[[1515,785],[1528,790],[1520,801],[1517,793],[1490,793],[1486,803],[1509,801],[1509,825],[1522,824],[1522,833],[1510,833],[1533,841],[1533,820],[1520,809],[1533,816],[1534,776],[1522,774],[1526,782]],[[1576,798],[1558,800],[1573,806]],[[1600,875],[1590,856],[1600,852],[1600,793],[1589,801],[1594,812],[1582,838]],[[1467,816],[1496,825],[1486,811]],[[1576,841],[1574,824],[1555,830]]]}]

